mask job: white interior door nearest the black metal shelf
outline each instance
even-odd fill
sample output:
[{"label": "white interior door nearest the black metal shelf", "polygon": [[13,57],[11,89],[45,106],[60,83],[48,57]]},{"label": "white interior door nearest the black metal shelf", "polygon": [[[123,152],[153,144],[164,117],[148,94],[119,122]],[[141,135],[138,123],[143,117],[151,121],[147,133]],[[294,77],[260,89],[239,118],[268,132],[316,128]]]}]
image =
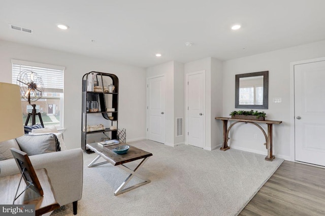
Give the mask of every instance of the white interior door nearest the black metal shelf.
[{"label": "white interior door nearest the black metal shelf", "polygon": [[166,140],[166,78],[165,76],[148,79],[148,129],[150,140],[165,143]]}]

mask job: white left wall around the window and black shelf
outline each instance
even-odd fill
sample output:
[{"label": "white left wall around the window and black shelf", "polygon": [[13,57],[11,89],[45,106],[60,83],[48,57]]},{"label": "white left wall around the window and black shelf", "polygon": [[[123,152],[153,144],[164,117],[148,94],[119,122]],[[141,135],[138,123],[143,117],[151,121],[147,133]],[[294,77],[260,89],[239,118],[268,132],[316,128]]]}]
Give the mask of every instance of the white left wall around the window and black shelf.
[{"label": "white left wall around the window and black shelf", "polygon": [[0,40],[0,82],[11,83],[11,59],[66,67],[63,112],[66,128],[64,140],[67,148],[80,148],[82,76],[89,71],[115,74],[119,78],[119,128],[126,128],[128,141],[145,138],[144,68]]}]

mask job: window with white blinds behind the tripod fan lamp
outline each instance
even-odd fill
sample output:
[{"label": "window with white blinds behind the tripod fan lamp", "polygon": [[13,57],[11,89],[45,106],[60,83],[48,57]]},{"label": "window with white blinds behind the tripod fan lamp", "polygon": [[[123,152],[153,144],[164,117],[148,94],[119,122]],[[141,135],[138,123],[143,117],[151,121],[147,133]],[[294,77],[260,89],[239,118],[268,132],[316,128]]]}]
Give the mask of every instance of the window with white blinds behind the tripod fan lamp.
[{"label": "window with white blinds behind the tripod fan lamp", "polygon": [[[43,96],[30,103],[36,104],[36,112],[41,113],[45,127],[55,125],[57,128],[63,128],[63,72],[65,68],[20,60],[12,60],[11,62],[13,84],[23,85],[17,81],[18,75],[22,70],[30,70],[41,77],[44,85]],[[25,93],[24,89],[21,88],[21,106],[24,123],[28,113],[32,111],[32,106],[28,104],[27,98],[24,96]],[[36,123],[39,122],[39,117],[36,116]],[[29,120],[29,124],[31,124],[31,120]]]}]

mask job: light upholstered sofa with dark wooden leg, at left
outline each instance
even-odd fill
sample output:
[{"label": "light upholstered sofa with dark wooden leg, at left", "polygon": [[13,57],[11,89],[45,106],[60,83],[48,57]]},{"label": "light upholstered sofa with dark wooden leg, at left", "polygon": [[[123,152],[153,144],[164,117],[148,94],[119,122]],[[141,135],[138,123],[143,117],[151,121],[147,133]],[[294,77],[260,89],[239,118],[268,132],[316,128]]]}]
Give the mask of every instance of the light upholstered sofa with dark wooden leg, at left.
[{"label": "light upholstered sofa with dark wooden leg, at left", "polygon": [[[6,159],[10,157],[11,148],[22,150],[16,139],[0,142],[0,177],[19,173],[14,159]],[[77,202],[82,195],[83,155],[81,149],[65,149],[61,146],[62,151],[31,155],[29,159],[34,169],[47,170],[60,206],[73,203],[74,214],[77,214]]]}]

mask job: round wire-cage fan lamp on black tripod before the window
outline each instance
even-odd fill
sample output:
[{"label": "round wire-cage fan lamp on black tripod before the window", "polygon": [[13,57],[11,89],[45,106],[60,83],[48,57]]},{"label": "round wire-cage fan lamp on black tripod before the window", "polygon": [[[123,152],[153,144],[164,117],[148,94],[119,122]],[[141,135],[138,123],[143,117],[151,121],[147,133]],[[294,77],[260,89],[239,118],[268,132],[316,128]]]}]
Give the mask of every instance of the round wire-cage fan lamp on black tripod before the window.
[{"label": "round wire-cage fan lamp on black tripod before the window", "polygon": [[[20,71],[17,77],[17,85],[20,86],[20,92],[22,98],[24,98],[30,104],[31,101],[37,101],[43,96],[44,84],[42,78],[31,70]],[[39,116],[41,125],[44,127],[41,113],[36,113],[36,104],[30,104],[32,106],[32,112],[28,113],[25,125],[28,124],[31,116],[31,124],[36,124],[36,115]]]}]

